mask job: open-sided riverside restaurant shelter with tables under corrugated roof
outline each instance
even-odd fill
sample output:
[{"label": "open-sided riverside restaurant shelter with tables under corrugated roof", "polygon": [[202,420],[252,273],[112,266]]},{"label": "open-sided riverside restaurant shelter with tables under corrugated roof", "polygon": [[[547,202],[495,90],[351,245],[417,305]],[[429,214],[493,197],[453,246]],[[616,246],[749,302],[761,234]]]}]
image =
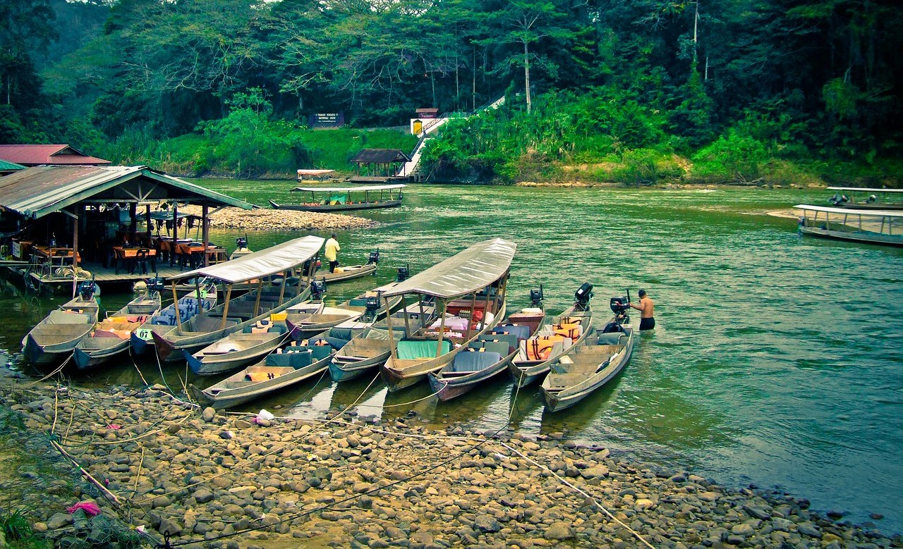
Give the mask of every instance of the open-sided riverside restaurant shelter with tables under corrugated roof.
[{"label": "open-sided riverside restaurant shelter with tables under corrugated roof", "polygon": [[[73,279],[79,263],[89,266],[98,280],[126,282],[147,276],[146,271],[107,271],[111,264],[118,271],[120,260],[131,267],[136,258],[155,263],[161,244],[177,241],[179,224],[191,219],[178,212],[186,204],[201,206],[200,218],[194,217],[204,250],[209,246],[211,206],[253,207],[146,166],[38,166],[0,178],[4,243],[14,260],[37,273],[33,278],[40,283]],[[163,223],[154,223],[160,218],[154,210],[161,206],[167,206]],[[139,222],[144,224],[141,230]],[[207,264],[208,254],[200,255]],[[69,266],[61,272],[60,267]]]}]

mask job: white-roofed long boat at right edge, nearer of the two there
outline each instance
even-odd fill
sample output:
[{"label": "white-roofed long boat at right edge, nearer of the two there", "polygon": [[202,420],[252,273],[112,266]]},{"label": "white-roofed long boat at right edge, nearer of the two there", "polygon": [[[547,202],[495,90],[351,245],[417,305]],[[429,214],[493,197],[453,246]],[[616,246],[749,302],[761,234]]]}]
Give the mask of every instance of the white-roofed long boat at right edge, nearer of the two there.
[{"label": "white-roofed long boat at right edge, nearer of the two there", "polygon": [[867,210],[797,204],[799,232],[852,242],[903,246],[903,210]]}]

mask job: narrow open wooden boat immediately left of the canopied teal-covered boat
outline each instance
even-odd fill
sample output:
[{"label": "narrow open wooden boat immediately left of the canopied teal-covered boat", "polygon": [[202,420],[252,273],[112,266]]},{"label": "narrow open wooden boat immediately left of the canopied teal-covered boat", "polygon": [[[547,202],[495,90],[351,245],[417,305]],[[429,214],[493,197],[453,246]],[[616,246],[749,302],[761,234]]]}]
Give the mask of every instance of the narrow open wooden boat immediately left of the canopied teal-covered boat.
[{"label": "narrow open wooden boat immediately left of the canopied teal-covered boat", "polygon": [[[388,333],[389,322],[399,326],[395,330],[400,332],[405,330],[405,325],[419,326],[421,323],[430,323],[434,319],[434,304],[429,301],[421,301],[393,313],[391,319],[384,319],[368,325],[332,357],[330,377],[333,381],[353,380],[386,363],[392,353]],[[341,327],[338,325],[336,329]]]}]

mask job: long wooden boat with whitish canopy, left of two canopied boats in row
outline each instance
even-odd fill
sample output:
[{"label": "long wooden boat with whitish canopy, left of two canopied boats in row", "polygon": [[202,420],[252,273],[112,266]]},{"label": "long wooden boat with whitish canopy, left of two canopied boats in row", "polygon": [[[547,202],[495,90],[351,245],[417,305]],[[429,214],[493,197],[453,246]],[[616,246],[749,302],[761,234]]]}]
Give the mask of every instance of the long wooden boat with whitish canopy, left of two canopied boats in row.
[{"label": "long wooden boat with whitish canopy, left of two canopied boats in row", "polygon": [[[242,331],[246,326],[269,318],[308,299],[311,295],[312,272],[306,279],[293,276],[295,268],[312,259],[324,239],[303,236],[276,244],[260,252],[253,252],[234,260],[189,270],[172,277],[172,295],[180,279],[207,277],[226,285],[226,299],[222,305],[200,312],[187,322],[176,315],[176,326],[163,334],[154,332],[154,345],[161,361],[185,360],[210,343]],[[276,276],[278,275],[278,276]],[[232,286],[258,280],[257,288],[239,297],[232,297]]]}]

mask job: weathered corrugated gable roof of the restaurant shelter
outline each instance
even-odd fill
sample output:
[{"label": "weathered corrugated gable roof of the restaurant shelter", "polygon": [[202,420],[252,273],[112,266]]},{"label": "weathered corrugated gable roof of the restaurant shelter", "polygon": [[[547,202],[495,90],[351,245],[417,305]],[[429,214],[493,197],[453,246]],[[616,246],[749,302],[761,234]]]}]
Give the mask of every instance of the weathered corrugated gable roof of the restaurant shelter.
[{"label": "weathered corrugated gable roof of the restaurant shelter", "polygon": [[[131,187],[144,196],[135,196],[129,189],[117,189],[133,182],[135,185]],[[0,178],[0,206],[33,219],[79,202],[89,202],[92,197],[114,200],[119,197],[123,202],[134,201],[136,197],[173,199],[246,210],[254,207],[146,166],[38,166]]]}]

